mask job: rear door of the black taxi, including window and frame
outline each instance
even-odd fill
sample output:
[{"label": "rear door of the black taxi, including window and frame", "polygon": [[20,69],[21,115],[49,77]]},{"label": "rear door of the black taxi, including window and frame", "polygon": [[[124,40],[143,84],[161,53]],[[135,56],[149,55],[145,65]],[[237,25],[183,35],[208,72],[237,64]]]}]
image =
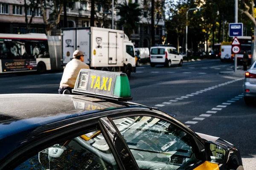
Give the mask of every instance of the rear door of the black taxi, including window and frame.
[{"label": "rear door of the black taxi, including window and frame", "polygon": [[108,118],[80,119],[71,125],[62,125],[57,129],[51,125],[52,130],[44,132],[44,138],[23,146],[12,155],[12,160],[5,162],[7,165],[3,169],[139,170]]}]

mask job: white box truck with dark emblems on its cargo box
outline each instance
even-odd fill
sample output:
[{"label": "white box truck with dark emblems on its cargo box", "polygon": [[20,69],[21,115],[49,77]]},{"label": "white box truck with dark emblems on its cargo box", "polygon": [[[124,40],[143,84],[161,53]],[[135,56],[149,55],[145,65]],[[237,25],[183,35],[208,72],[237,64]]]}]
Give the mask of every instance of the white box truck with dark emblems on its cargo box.
[{"label": "white box truck with dark emblems on its cargo box", "polygon": [[63,65],[73,59],[73,51],[80,50],[91,69],[122,71],[128,77],[136,72],[134,45],[124,31],[97,27],[61,30]]}]

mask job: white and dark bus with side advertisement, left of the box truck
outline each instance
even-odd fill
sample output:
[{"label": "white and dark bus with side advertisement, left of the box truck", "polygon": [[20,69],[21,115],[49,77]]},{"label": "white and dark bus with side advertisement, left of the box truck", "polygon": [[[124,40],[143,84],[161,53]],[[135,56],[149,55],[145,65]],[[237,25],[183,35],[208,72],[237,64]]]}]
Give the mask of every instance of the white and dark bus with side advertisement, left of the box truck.
[{"label": "white and dark bus with side advertisement, left of the box truck", "polygon": [[61,69],[60,36],[0,34],[0,74]]}]

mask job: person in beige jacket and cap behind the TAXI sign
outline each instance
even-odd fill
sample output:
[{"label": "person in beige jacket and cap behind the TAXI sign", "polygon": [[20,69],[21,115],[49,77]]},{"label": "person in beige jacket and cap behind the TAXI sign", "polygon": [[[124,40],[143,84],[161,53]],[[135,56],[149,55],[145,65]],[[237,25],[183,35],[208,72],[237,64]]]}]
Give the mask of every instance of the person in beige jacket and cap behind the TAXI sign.
[{"label": "person in beige jacket and cap behind the TAXI sign", "polygon": [[72,94],[72,89],[75,87],[76,78],[82,68],[90,69],[89,65],[84,63],[84,54],[82,51],[76,50],[73,53],[73,59],[67,63],[58,89],[59,94],[63,94],[65,90],[69,90]]}]

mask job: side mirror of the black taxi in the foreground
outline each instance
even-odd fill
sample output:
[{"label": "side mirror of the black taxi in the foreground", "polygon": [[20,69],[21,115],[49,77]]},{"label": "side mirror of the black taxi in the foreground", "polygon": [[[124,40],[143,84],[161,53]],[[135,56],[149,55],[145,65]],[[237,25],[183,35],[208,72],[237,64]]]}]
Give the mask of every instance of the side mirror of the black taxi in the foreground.
[{"label": "side mirror of the black taxi in the foreground", "polygon": [[225,164],[230,155],[229,149],[218,142],[206,142],[204,145],[206,160],[211,163]]}]

